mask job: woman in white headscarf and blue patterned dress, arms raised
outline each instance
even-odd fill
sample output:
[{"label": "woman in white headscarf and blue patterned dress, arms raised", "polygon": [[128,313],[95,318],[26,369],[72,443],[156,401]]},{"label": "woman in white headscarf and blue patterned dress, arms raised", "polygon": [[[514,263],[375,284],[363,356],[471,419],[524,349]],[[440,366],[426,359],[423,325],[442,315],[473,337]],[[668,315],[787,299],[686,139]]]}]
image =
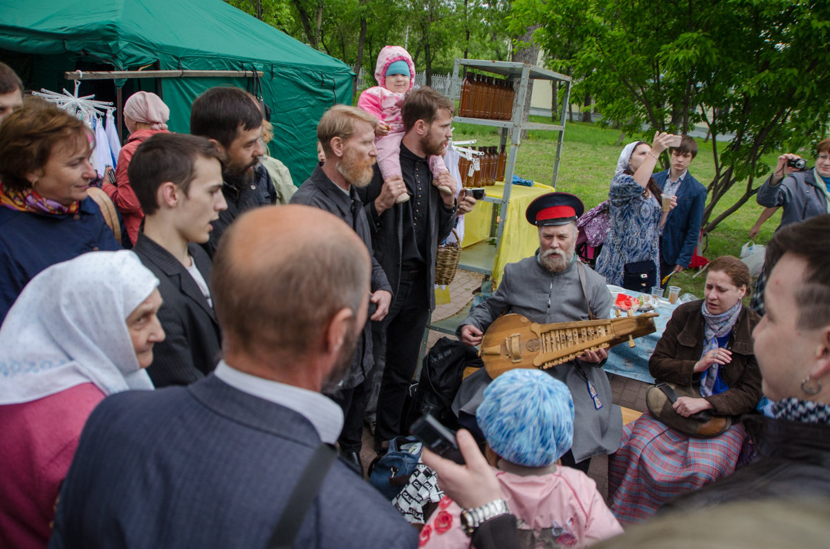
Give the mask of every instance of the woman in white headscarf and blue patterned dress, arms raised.
[{"label": "woman in white headscarf and blue patterned dress, arms raised", "polygon": [[[661,211],[662,193],[652,179],[652,172],[660,153],[669,147],[671,137],[671,134],[656,133],[651,145],[644,141],[628,143],[620,154],[608,191],[611,230],[596,267],[608,284],[648,292],[647,286],[657,283],[660,231],[666,224],[668,211]],[[676,203],[677,199],[671,197],[671,207]],[[647,262],[653,263],[652,270],[646,268]],[[647,271],[649,284],[629,287],[632,284],[624,283],[625,265],[638,263],[641,265],[632,265],[630,269]]]}]

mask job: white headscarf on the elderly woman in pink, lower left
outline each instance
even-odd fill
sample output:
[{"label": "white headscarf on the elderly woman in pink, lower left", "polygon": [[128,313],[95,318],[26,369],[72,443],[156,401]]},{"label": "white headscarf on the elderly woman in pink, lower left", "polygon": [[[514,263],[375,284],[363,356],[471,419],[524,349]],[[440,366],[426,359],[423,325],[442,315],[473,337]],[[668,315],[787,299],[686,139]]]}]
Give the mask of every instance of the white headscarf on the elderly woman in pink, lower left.
[{"label": "white headscarf on the elderly woman in pink, lower left", "polygon": [[159,279],[131,251],[94,251],[33,278],[0,328],[0,404],[35,401],[81,383],[106,395],[153,389],[126,319]]}]

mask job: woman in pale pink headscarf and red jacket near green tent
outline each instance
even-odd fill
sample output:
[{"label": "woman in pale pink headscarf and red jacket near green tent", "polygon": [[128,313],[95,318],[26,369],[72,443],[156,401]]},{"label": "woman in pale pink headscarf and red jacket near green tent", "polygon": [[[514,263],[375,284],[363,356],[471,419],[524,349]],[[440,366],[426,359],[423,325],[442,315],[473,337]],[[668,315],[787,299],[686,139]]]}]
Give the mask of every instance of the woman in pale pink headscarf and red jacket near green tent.
[{"label": "woman in pale pink headscarf and red jacket near green tent", "polygon": [[[109,195],[115,207],[121,212],[129,241],[135,244],[139,238],[139,227],[144,219],[139,199],[129,185],[127,167],[139,148],[151,135],[167,132],[170,109],[158,95],[149,91],[137,91],[124,104],[124,123],[129,130],[127,143],[118,155],[115,167],[115,185],[105,182],[101,188]],[[126,244],[125,244],[126,245]]]}]

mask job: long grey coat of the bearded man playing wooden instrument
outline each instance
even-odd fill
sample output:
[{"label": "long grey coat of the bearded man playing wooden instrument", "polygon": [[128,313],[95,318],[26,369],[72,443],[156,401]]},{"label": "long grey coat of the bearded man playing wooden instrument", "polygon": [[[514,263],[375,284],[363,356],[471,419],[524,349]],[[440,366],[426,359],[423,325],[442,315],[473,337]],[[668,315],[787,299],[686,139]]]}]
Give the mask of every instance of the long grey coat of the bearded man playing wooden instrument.
[{"label": "long grey coat of the bearded man playing wooden instrument", "polygon": [[[608,318],[612,300],[605,279],[586,268],[585,284],[594,315]],[[576,262],[562,273],[549,273],[535,256],[528,257],[505,266],[505,274],[496,292],[473,309],[461,326],[472,324],[484,332],[503,313],[518,313],[536,323],[588,320],[588,303],[579,283]],[[602,403],[599,409],[595,408],[588,394],[587,382],[579,376],[577,363],[598,393]],[[619,406],[612,402],[611,385],[602,365],[575,360],[549,368],[546,372],[563,381],[574,398],[574,460],[579,463],[594,455],[616,452],[623,435],[623,415]],[[481,372],[467,377],[453,402],[453,410],[475,414],[481,403],[481,394],[489,382],[490,378],[483,368]]]}]

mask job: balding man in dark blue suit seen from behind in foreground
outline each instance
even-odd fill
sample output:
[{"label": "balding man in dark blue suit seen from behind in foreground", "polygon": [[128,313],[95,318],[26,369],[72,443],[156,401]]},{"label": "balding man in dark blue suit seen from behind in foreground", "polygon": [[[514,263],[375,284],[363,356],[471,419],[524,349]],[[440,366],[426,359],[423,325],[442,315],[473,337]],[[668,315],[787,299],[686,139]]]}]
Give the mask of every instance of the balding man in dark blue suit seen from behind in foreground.
[{"label": "balding man in dark blue suit seen from behind in foreground", "polygon": [[[310,206],[237,218],[214,256],[224,361],[187,387],[125,391],[90,415],[61,489],[51,547],[417,547],[417,532],[339,461],[307,466],[340,432],[320,395],[352,362],[369,250]],[[300,486],[313,502],[290,506]]]}]

